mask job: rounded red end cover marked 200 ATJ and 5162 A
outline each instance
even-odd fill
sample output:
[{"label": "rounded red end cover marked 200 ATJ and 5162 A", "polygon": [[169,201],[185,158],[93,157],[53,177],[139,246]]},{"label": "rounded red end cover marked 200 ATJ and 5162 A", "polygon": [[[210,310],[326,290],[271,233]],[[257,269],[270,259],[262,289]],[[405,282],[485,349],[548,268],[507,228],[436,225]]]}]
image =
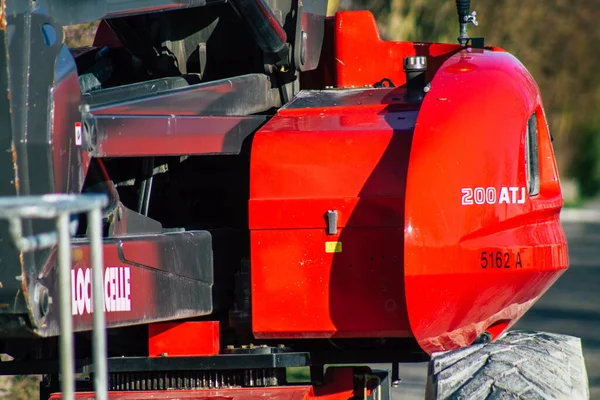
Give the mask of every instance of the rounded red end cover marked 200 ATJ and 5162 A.
[{"label": "rounded red end cover marked 200 ATJ and 5162 A", "polygon": [[[531,197],[525,132],[535,111],[541,190]],[[478,187],[492,188],[490,198],[463,197]],[[561,206],[540,95],[527,70],[507,53],[454,55],[421,107],[406,187],[406,298],[424,350],[467,345],[500,321],[497,335],[547,290],[568,264]]]}]

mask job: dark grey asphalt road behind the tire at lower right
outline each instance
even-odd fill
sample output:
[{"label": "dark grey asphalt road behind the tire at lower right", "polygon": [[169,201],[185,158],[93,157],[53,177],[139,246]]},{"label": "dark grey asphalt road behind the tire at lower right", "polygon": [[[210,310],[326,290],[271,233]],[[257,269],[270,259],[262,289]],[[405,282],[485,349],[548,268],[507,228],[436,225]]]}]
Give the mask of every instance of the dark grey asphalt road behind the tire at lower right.
[{"label": "dark grey asphalt road behind the tire at lower right", "polygon": [[[600,399],[600,223],[563,221],[569,269],[513,329],[581,338],[590,398]],[[401,364],[402,382],[392,398],[423,399],[427,364]]]}]

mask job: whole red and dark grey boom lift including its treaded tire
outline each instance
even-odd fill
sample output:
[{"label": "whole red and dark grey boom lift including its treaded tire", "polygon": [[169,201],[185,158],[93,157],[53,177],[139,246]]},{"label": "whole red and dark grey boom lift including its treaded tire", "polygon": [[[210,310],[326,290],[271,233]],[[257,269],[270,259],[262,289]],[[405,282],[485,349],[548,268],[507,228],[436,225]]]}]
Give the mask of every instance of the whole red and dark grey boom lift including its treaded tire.
[{"label": "whole red and dark grey boom lift including its treaded tire", "polygon": [[429,361],[429,398],[588,397],[579,339],[510,330],[567,269],[563,199],[539,89],[469,1],[458,44],[320,0],[0,5],[1,374],[379,400]]}]

